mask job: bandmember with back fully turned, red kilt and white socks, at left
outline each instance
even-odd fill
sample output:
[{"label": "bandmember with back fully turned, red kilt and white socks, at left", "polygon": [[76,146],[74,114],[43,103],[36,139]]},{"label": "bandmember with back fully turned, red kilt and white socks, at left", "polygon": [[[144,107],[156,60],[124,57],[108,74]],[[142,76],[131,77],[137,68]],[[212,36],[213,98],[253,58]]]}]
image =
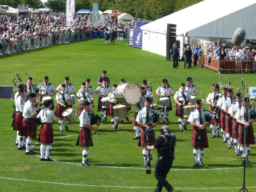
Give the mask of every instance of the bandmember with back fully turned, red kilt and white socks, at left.
[{"label": "bandmember with back fully turned, red kilt and white socks, at left", "polygon": [[[52,150],[53,143],[53,129],[52,123],[56,122],[56,117],[53,111],[51,111],[53,102],[52,100],[44,101],[44,109],[38,113],[38,117],[41,118],[41,129],[38,137],[38,142],[41,143],[41,161],[53,161],[49,158],[49,153]],[[45,158],[44,158],[45,150]]]}]

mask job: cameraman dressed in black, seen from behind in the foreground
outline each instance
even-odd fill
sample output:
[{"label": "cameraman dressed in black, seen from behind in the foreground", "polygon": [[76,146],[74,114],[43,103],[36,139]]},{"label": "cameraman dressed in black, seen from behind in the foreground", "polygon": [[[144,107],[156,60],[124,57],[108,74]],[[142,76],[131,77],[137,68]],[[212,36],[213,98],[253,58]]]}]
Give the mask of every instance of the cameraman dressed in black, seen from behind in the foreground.
[{"label": "cameraman dressed in black, seen from behind in the foreground", "polygon": [[166,180],[166,176],[172,167],[172,161],[174,160],[174,148],[176,143],[176,137],[170,133],[168,125],[163,125],[160,128],[160,136],[152,146],[147,146],[148,150],[155,150],[157,148],[157,163],[155,166],[155,177],[158,180],[155,192],[160,192],[163,186],[168,192],[173,191],[173,187]]}]

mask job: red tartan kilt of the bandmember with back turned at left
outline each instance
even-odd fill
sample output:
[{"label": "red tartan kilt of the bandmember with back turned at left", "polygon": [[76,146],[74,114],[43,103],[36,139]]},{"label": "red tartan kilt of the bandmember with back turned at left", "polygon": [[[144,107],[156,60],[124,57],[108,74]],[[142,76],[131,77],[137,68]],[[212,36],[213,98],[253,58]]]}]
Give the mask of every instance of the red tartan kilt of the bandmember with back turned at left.
[{"label": "red tartan kilt of the bandmember with back turned at left", "polygon": [[52,123],[42,123],[38,142],[48,144],[53,143]]}]

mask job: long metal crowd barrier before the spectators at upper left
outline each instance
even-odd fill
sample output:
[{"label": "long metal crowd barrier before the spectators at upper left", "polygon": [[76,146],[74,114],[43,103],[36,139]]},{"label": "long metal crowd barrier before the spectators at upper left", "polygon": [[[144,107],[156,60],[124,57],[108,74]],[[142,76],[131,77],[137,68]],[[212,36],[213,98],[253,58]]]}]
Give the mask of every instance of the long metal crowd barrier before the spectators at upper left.
[{"label": "long metal crowd barrier before the spectators at upper left", "polygon": [[89,31],[59,34],[41,38],[29,38],[24,41],[7,42],[1,44],[2,46],[0,47],[0,55],[37,49],[39,47],[47,47],[53,44],[69,43],[70,41],[81,41],[92,37],[93,32]]}]

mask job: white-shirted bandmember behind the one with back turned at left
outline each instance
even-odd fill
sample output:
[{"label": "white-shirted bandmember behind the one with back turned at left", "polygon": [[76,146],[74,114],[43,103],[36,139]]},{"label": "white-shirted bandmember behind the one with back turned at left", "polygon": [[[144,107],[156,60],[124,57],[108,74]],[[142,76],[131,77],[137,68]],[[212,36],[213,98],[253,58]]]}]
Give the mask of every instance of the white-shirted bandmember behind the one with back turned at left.
[{"label": "white-shirted bandmember behind the one with back turned at left", "polygon": [[[48,97],[48,96],[52,97],[56,93],[54,86],[51,83],[49,83],[48,76],[44,76],[44,83],[40,84],[38,86],[38,89],[39,89],[41,98]],[[53,99],[52,99],[52,102],[53,102]],[[52,105],[52,109],[54,109],[54,104]]]}]

